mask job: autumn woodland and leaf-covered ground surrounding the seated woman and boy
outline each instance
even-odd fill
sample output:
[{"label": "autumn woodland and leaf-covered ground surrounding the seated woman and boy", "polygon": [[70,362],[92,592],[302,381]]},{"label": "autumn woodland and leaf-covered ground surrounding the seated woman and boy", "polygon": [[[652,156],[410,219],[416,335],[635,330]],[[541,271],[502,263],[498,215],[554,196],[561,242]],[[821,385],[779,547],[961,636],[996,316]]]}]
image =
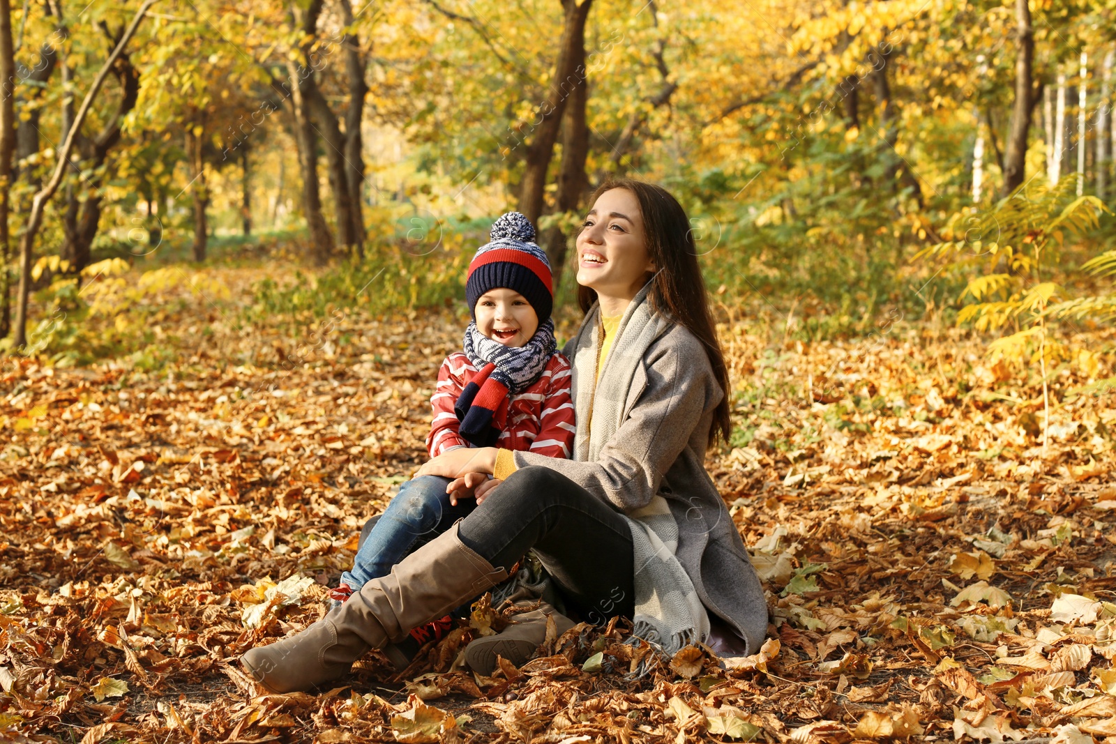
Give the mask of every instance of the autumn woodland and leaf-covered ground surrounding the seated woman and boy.
[{"label": "autumn woodland and leaf-covered ground surrounding the seated woman and boy", "polygon": [[[1113,0],[0,0],[0,731],[1116,736],[1114,58]],[[259,697],[227,659],[422,461],[492,220],[568,338],[613,175],[691,216],[775,647],[591,719],[623,628]]]}]

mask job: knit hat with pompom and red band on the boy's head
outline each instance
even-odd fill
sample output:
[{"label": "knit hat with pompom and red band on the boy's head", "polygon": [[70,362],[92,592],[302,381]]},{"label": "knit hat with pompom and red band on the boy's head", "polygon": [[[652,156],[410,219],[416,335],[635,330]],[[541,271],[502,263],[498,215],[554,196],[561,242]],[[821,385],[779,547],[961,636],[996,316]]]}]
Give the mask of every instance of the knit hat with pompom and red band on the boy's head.
[{"label": "knit hat with pompom and red band on the boy's head", "polygon": [[519,212],[508,212],[492,223],[489,240],[469,264],[469,312],[477,318],[477,300],[484,292],[511,289],[531,303],[541,326],[550,317],[555,300],[550,261],[535,244],[535,226]]}]

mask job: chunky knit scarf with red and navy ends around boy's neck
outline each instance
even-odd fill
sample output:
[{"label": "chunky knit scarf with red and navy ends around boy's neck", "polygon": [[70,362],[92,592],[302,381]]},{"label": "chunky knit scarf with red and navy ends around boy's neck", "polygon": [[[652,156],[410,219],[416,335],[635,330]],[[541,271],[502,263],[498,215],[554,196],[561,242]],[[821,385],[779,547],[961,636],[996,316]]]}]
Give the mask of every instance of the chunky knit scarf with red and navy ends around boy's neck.
[{"label": "chunky knit scarf with red and navy ends around boy's neck", "polygon": [[554,356],[555,323],[549,318],[539,326],[527,344],[504,346],[481,334],[477,322],[465,329],[464,352],[477,374],[469,380],[453,412],[458,414],[458,433],[478,447],[491,447],[500,436],[492,416],[509,395],[535,384]]}]

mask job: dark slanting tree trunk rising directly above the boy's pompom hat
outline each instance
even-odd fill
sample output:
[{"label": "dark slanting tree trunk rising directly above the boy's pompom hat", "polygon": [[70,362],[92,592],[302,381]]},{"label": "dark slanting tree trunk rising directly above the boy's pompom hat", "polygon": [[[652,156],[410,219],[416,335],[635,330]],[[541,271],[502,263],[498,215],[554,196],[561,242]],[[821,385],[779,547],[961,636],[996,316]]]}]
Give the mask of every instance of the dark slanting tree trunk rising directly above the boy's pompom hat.
[{"label": "dark slanting tree trunk rising directly above the boy's pompom hat", "polygon": [[578,70],[577,50],[585,56],[585,22],[589,16],[593,0],[562,0],[565,21],[561,40],[559,41],[558,61],[555,64],[555,77],[546,100],[539,105],[537,113],[538,126],[535,139],[527,148],[523,177],[519,184],[519,211],[532,223],[538,222],[542,214],[542,197],[547,185],[547,170],[554,155],[555,143],[558,141],[558,129],[566,100],[578,87],[585,85],[585,66]]}]

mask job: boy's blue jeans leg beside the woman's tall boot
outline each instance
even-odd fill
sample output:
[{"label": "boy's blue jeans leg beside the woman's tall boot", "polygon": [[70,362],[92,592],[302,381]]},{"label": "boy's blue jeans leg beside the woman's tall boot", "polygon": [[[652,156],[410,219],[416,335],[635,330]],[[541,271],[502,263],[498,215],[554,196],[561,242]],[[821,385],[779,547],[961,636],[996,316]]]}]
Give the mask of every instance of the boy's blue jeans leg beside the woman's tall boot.
[{"label": "boy's blue jeans leg beside the woman's tall boot", "polygon": [[477,501],[471,497],[451,505],[445,492],[450,482],[448,477],[420,475],[403,483],[357,551],[353,570],[341,574],[341,583],[356,591],[366,581],[387,576],[414,549],[477,509]]}]

